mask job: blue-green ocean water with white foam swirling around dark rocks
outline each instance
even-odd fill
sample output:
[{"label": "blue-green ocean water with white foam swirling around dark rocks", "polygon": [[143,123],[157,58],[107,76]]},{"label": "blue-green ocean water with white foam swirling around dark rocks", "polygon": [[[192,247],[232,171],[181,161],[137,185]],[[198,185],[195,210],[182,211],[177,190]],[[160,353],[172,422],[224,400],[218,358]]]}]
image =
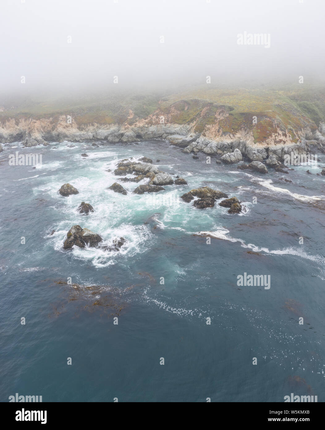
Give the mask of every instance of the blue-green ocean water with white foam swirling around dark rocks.
[{"label": "blue-green ocean water with white foam swirling around dark rocks", "polygon": [[[167,141],[67,144],[15,143],[0,154],[2,402],[15,393],[43,402],[325,400],[324,155],[318,166],[262,175],[194,160]],[[9,166],[15,151],[37,151],[43,163]],[[143,156],[188,185],[155,195],[132,194],[144,182],[122,183],[127,196],[106,189],[117,159]],[[79,194],[60,196],[66,182]],[[245,212],[179,200],[206,185],[238,197]],[[95,212],[80,215],[81,201]],[[74,224],[104,244],[127,243],[118,253],[66,251]],[[270,275],[270,289],[237,286],[244,272]]]}]

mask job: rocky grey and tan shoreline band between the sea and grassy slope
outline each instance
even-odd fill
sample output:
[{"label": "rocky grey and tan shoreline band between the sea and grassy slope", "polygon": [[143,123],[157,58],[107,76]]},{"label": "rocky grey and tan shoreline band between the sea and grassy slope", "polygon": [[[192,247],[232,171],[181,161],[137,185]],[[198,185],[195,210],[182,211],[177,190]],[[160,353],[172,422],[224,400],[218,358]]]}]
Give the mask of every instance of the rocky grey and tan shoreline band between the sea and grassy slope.
[{"label": "rocky grey and tan shoreline band between the sea and grassy slope", "polygon": [[[151,121],[152,122],[152,121]],[[309,127],[297,130],[298,138],[286,130],[277,129],[264,139],[255,142],[252,130],[242,129],[236,133],[226,133],[222,129],[206,127],[202,132],[195,132],[193,124],[150,124],[143,122],[129,126],[128,124],[81,124],[73,120],[67,123],[67,117],[58,120],[33,118],[6,120],[0,123],[0,144],[19,141],[23,147],[47,145],[49,142],[96,142],[101,144],[138,143],[142,140],[163,139],[176,145],[184,153],[203,153],[216,156],[223,163],[238,163],[243,159],[248,162],[262,162],[268,166],[283,163],[287,154],[309,155],[317,151],[325,153],[325,124],[320,123],[318,129]],[[1,147],[0,147],[1,151]],[[87,154],[83,154],[85,157]]]}]

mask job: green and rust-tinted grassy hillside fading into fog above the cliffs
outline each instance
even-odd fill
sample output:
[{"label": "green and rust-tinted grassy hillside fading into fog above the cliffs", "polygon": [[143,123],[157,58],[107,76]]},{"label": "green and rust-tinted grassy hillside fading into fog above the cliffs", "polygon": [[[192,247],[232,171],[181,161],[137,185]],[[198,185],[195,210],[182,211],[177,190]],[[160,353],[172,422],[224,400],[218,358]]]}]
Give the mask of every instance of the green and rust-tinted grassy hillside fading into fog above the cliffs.
[{"label": "green and rust-tinted grassy hillside fading into fog above the cliffs", "polygon": [[[295,84],[255,89],[216,88],[206,84],[173,93],[115,90],[109,94],[101,92],[46,100],[26,96],[5,100],[0,121],[22,117],[52,117],[55,120],[59,115],[72,115],[79,125],[93,122],[132,125],[155,111],[168,116],[172,123],[193,123],[197,132],[215,124],[216,115],[224,111],[226,114],[218,123],[223,133],[234,133],[243,127],[252,129],[257,142],[263,141],[278,127],[289,131],[295,141],[295,131],[306,126],[316,129],[325,121],[325,87]],[[256,124],[253,117],[257,117]]]}]

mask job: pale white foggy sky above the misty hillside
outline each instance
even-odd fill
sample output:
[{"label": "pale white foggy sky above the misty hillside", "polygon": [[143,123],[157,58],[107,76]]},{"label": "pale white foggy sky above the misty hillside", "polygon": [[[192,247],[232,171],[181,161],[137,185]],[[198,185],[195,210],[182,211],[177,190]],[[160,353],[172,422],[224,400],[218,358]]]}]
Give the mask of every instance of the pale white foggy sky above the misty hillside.
[{"label": "pale white foggy sky above the misty hillside", "polygon": [[324,75],[324,0],[115,1],[1,0],[1,92]]}]

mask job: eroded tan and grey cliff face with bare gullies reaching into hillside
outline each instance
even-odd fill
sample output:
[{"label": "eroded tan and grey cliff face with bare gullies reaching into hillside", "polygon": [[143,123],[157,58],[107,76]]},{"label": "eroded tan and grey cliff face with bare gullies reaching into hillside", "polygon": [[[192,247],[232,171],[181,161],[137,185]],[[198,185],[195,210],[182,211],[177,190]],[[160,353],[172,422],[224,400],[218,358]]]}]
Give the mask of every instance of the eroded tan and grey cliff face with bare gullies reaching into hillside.
[{"label": "eroded tan and grey cliff face with bare gullies reaching into hillside", "polygon": [[[77,124],[68,116],[58,119],[10,119],[0,123],[0,142],[10,143],[21,141],[24,147],[39,144],[46,145],[53,141],[105,141],[107,143],[135,142],[141,139],[167,139],[171,144],[182,147],[185,153],[197,153],[220,156],[239,149],[251,161],[262,161],[270,155],[283,160],[285,154],[307,154],[311,148],[317,147],[325,151],[325,126],[311,130],[309,126],[297,130],[284,129],[273,124],[263,138],[256,138],[252,126],[237,126],[237,130],[223,128],[229,112],[218,109],[213,123],[201,126],[200,121],[206,114],[204,109],[197,119],[191,123],[173,123],[179,112],[172,109],[168,114],[156,111],[145,119],[124,124]],[[129,118],[133,117],[130,111]],[[229,131],[230,130],[230,131]]]}]

